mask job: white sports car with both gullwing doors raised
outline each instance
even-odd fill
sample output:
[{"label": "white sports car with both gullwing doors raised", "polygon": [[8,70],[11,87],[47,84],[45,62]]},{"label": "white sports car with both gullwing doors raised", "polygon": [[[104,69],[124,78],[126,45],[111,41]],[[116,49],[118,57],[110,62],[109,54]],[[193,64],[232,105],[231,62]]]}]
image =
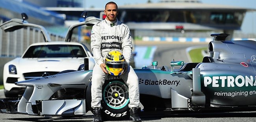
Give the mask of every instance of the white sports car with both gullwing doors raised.
[{"label": "white sports car with both gullwing doors raised", "polygon": [[[6,97],[22,96],[25,87],[17,86],[14,83],[22,80],[28,80],[41,76],[56,75],[65,70],[84,70],[93,68],[94,64],[84,67],[84,60],[92,60],[93,55],[87,47],[78,42],[70,42],[71,37],[74,38],[76,27],[91,26],[100,20],[94,17],[86,18],[85,22],[80,22],[70,26],[64,41],[51,42],[50,36],[45,28],[40,25],[29,24],[26,16],[22,15],[21,19],[12,19],[2,25],[4,31],[15,31],[22,27],[36,27],[41,30],[45,42],[30,45],[23,55],[15,58],[4,65],[4,93]],[[85,58],[85,59],[84,59]]]}]

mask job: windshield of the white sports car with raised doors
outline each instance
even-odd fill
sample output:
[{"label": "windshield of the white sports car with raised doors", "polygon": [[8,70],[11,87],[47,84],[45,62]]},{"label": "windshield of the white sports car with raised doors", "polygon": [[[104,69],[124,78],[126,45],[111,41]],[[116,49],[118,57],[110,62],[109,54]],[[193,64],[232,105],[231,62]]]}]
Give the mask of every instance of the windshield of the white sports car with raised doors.
[{"label": "windshield of the white sports car with raised doors", "polygon": [[60,58],[86,57],[82,46],[78,45],[40,45],[31,46],[22,58]]}]

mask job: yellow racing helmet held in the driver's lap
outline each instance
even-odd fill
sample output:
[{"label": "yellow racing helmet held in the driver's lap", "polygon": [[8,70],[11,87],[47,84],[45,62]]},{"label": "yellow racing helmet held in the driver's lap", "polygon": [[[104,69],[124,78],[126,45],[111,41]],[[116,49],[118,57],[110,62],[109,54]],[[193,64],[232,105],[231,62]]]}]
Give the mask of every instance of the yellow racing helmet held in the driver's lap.
[{"label": "yellow racing helmet held in the driver's lap", "polygon": [[110,51],[106,56],[106,71],[113,76],[122,75],[125,69],[125,59],[121,52]]}]

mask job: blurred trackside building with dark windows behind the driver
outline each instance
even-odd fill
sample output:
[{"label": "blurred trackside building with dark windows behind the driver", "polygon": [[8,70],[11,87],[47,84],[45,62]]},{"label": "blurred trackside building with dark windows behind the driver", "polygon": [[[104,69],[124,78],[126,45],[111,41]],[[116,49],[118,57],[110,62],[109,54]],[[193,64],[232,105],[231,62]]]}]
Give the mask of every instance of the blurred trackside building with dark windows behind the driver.
[{"label": "blurred trackside building with dark windows behind the driver", "polygon": [[[69,1],[66,3],[72,5],[74,4],[72,2],[80,1],[81,5],[85,4],[84,0],[52,1]],[[41,6],[65,16],[66,26],[78,22],[83,11],[88,11],[88,16],[104,18],[103,9],[55,5],[56,7],[44,4]],[[221,4],[204,4],[200,0],[161,0],[158,3],[119,6],[118,19],[127,24],[134,37],[140,40],[176,41],[179,37],[191,40],[193,37],[210,37],[211,33],[228,33],[232,35],[228,39],[254,38],[254,35],[236,33],[241,30],[247,11],[255,10]]]}]

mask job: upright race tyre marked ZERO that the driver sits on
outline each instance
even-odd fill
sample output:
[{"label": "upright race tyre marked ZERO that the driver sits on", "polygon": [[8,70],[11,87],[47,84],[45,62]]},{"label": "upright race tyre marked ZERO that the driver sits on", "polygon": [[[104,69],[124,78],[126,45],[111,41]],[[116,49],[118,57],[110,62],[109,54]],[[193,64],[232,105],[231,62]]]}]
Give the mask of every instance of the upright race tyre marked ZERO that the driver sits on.
[{"label": "upright race tyre marked ZERO that the driver sits on", "polygon": [[129,94],[128,86],[121,81],[105,82],[102,86],[102,118],[121,120],[128,118]]}]

